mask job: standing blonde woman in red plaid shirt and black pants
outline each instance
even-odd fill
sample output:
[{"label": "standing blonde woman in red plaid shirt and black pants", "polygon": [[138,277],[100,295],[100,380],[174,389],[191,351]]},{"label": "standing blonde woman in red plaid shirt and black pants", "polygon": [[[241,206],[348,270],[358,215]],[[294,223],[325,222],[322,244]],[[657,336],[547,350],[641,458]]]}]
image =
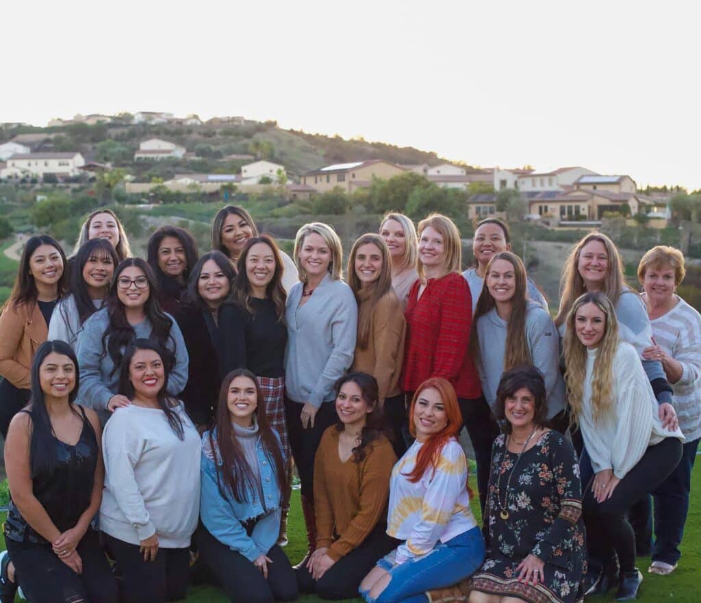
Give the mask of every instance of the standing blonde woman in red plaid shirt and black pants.
[{"label": "standing blonde woman in red plaid shirt and black pants", "polygon": [[451,219],[432,214],[418,224],[418,280],[409,291],[402,390],[411,395],[430,377],[455,388],[477,460],[479,501],[489,482],[491,430],[496,424],[468,352],[472,326],[470,287],[462,277],[460,233]]}]

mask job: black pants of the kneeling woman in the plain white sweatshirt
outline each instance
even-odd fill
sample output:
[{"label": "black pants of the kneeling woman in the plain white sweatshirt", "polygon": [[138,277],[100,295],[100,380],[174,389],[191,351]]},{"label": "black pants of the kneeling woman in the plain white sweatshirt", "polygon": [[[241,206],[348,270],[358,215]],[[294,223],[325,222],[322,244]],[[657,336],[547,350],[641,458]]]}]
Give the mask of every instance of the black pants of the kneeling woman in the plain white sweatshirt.
[{"label": "black pants of the kneeling woman in the plain white sweatshirt", "polygon": [[156,560],[147,562],[139,553],[139,545],[102,534],[122,574],[122,603],[165,603],[185,598],[190,578],[189,548],[158,548]]}]

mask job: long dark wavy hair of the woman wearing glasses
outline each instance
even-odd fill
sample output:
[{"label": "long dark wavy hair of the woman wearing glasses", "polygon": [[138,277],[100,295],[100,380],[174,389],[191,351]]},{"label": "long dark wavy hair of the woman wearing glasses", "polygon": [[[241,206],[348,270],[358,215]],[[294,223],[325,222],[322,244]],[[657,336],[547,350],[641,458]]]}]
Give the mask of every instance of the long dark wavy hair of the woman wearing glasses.
[{"label": "long dark wavy hair of the woman wearing glasses", "polygon": [[[122,350],[135,339],[134,327],[132,327],[127,320],[124,304],[122,304],[118,294],[119,276],[125,268],[130,266],[140,269],[149,281],[149,297],[147,297],[146,302],[144,302],[144,314],[149,320],[149,323],[151,323],[150,339],[156,341],[158,346],[161,346],[163,350],[167,350],[168,339],[171,337],[170,327],[172,327],[172,320],[163,312],[161,304],[158,304],[158,283],[156,281],[156,276],[154,276],[154,271],[151,270],[151,266],[140,257],[124,259],[116,267],[114,276],[112,277],[112,286],[107,295],[109,325],[102,335],[103,356],[109,354],[112,363],[114,363],[111,374],[116,373],[122,363]],[[171,352],[168,351],[168,353]],[[170,360],[174,363],[175,354],[171,354],[172,358]]]}]

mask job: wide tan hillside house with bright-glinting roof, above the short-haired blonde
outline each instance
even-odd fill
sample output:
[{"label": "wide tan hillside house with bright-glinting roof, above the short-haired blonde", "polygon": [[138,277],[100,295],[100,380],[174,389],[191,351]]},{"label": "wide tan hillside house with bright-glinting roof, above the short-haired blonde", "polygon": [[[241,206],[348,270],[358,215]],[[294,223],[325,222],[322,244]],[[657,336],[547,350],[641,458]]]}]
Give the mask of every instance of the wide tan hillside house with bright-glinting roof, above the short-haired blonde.
[{"label": "wide tan hillside house with bright-glinting roof, above the short-haired blonde", "polygon": [[336,163],[325,168],[311,170],[301,177],[301,184],[308,184],[320,193],[340,187],[347,193],[369,187],[373,178],[388,179],[406,173],[407,170],[396,163],[383,159]]}]

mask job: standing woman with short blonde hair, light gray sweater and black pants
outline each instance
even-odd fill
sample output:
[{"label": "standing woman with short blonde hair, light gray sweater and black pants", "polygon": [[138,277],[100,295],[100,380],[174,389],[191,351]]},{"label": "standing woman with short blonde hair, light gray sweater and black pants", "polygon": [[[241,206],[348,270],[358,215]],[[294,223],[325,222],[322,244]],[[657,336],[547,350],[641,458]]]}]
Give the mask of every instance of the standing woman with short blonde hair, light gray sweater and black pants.
[{"label": "standing woman with short blonde hair, light gray sweater and black pants", "polygon": [[285,419],[301,481],[309,553],[316,548],[313,478],[321,436],[336,421],[334,384],[353,363],[358,304],[341,280],[341,240],[328,224],[297,231],[294,261],[302,278],[285,305]]}]

